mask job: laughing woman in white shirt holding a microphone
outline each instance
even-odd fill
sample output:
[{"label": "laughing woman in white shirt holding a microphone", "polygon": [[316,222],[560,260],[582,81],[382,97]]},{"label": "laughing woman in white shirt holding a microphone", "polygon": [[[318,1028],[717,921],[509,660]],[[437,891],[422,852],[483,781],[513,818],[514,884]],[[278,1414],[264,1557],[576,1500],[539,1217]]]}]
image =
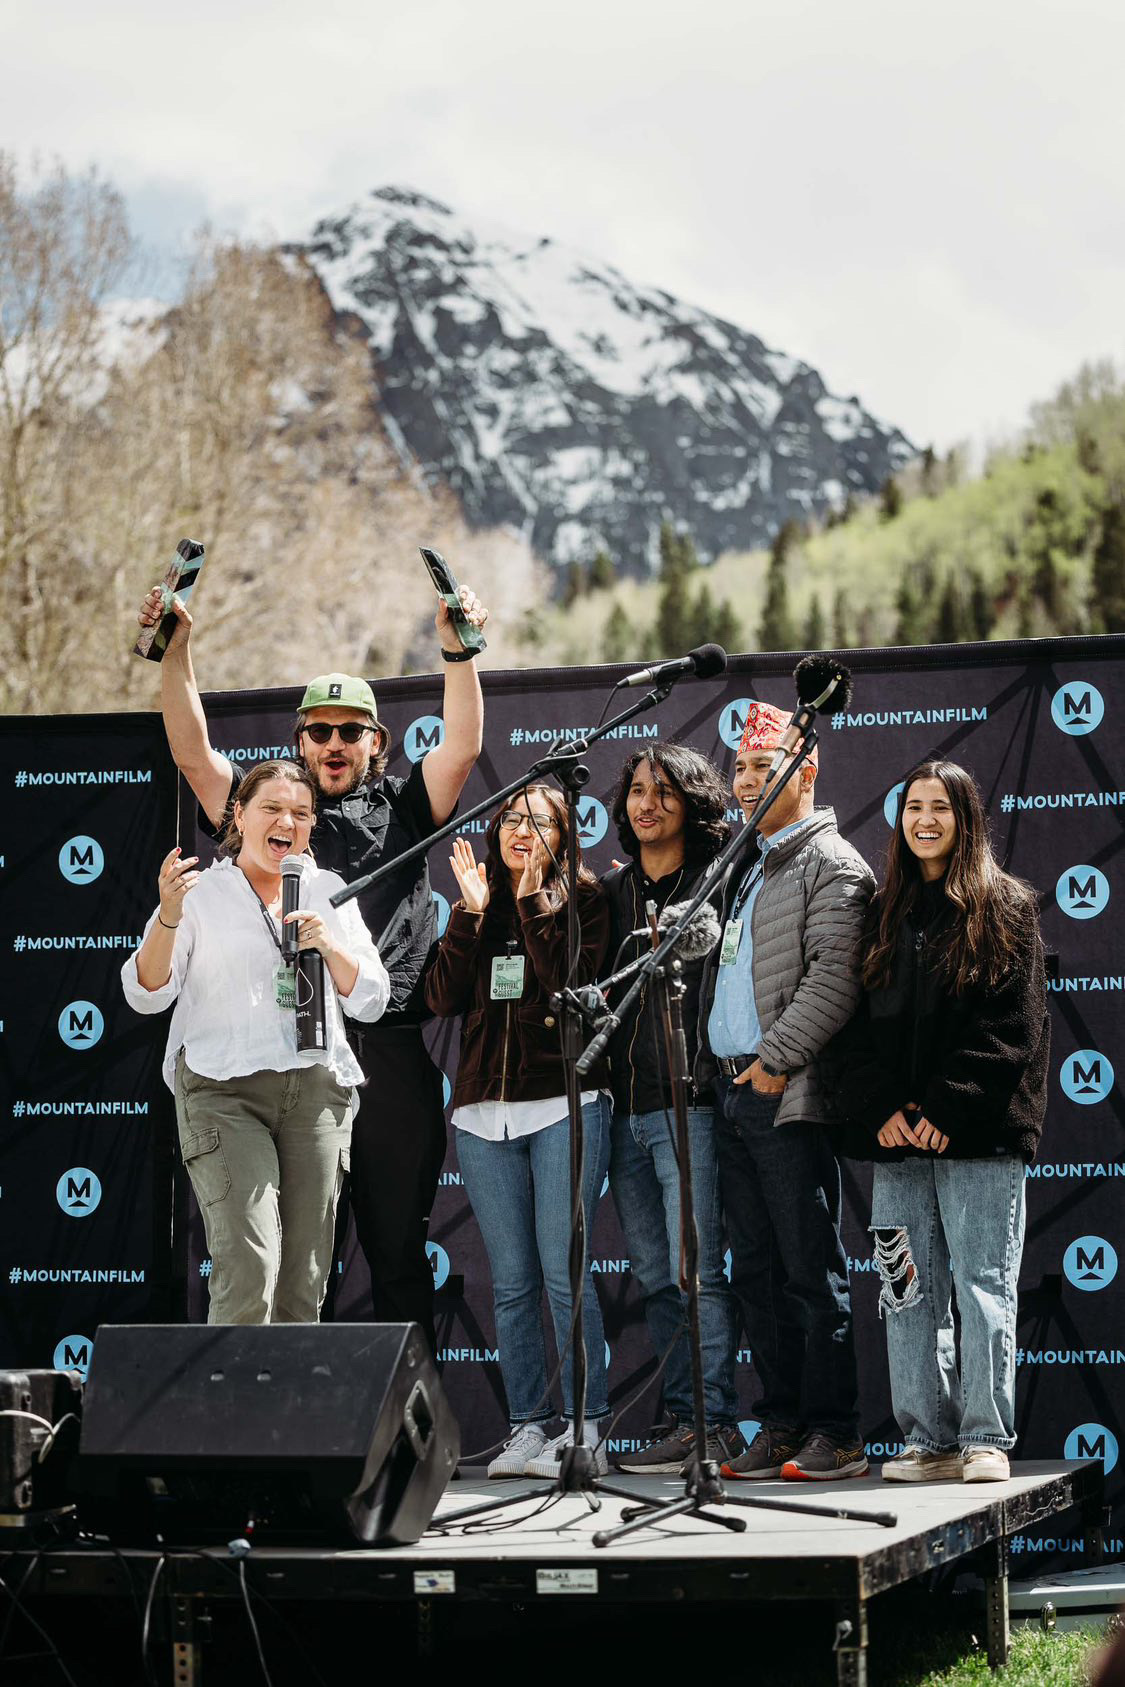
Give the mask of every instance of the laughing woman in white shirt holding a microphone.
[{"label": "laughing woman in white shirt holding a microphone", "polygon": [[[356,904],[329,903],[342,879],[305,854],[314,815],[304,768],[255,768],[214,865],[199,872],[179,849],[164,859],[160,906],[121,968],[138,1012],[175,1002],[164,1076],[211,1252],[213,1324],[319,1319],[363,1081],[341,1009],[373,1021],[390,994]],[[287,919],[324,957],[324,1049],[297,1044],[282,960],[282,864],[295,857],[302,906]]]}]

